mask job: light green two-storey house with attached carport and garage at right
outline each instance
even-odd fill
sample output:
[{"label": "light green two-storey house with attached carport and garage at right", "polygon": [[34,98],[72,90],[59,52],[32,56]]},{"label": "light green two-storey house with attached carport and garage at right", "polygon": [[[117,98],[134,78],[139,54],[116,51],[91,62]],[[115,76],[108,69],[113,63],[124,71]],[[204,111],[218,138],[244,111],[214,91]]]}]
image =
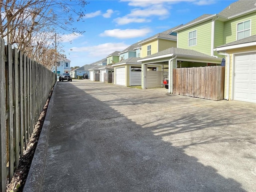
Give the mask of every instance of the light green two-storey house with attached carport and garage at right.
[{"label": "light green two-storey house with attached carport and garage at right", "polygon": [[[173,68],[220,65],[222,58],[226,58],[225,98],[256,102],[255,1],[238,0],[218,14],[204,14],[173,32],[177,33],[176,49],[167,49],[138,60],[142,62],[144,77],[147,77],[148,64],[167,64],[168,92],[172,93]],[[247,71],[246,83],[235,78],[234,74],[239,70]],[[147,81],[147,78],[142,79],[142,88],[147,88]],[[243,92],[245,87],[246,94]]]}]

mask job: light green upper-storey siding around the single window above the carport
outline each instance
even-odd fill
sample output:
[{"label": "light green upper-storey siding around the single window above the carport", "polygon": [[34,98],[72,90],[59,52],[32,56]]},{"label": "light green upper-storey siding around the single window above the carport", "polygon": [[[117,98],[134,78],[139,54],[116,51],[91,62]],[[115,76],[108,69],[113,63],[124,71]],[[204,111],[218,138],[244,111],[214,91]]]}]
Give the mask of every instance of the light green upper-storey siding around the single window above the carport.
[{"label": "light green upper-storey siding around the single window above the carport", "polygon": [[[196,45],[188,46],[188,33],[197,30]],[[178,48],[195,50],[211,55],[212,20],[186,28],[178,32]]]}]

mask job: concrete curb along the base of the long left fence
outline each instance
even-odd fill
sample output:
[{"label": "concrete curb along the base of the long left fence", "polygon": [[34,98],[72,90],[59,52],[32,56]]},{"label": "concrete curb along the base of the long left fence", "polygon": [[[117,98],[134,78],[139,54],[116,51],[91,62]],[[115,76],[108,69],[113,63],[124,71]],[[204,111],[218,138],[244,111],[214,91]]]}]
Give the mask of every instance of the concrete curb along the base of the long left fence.
[{"label": "concrete curb along the base of the long left fence", "polygon": [[42,188],[42,183],[44,181],[44,168],[48,150],[48,140],[50,136],[50,123],[52,120],[52,108],[54,103],[55,88],[57,82],[54,85],[52,91],[52,96],[48,104],[46,111],[46,117],[44,119],[44,124],[40,133],[38,144],[36,146],[36,151],[28,172],[26,183],[23,188],[23,192],[40,192]]}]

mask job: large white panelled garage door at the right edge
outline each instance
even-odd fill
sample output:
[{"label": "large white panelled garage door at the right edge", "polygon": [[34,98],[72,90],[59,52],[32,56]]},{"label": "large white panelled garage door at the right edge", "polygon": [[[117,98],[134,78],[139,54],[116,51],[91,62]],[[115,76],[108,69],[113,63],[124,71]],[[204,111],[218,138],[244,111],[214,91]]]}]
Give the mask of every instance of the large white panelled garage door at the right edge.
[{"label": "large white panelled garage door at the right edge", "polygon": [[256,52],[235,56],[234,100],[256,102]]}]

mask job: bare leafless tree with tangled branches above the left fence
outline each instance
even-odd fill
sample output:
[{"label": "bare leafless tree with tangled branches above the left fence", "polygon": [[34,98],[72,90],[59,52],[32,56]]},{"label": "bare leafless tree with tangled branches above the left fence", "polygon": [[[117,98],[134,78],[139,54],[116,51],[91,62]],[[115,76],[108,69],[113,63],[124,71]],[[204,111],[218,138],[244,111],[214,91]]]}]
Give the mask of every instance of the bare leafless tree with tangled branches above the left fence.
[{"label": "bare leafless tree with tangled branches above the left fence", "polygon": [[73,28],[72,23],[74,18],[76,21],[83,18],[87,4],[85,0],[1,0],[0,38],[35,60],[44,61],[53,55],[56,58],[55,45],[58,52],[61,46],[59,41],[55,44],[54,34],[84,33]]}]

